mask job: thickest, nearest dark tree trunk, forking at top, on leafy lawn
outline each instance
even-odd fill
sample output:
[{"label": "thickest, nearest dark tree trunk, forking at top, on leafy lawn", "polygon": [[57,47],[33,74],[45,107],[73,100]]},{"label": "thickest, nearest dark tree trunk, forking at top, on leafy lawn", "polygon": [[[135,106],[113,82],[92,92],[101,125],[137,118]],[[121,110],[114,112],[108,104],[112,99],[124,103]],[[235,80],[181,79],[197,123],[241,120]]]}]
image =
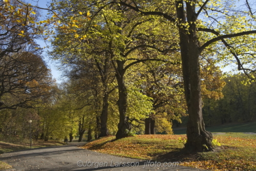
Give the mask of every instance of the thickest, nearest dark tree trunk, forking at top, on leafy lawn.
[{"label": "thickest, nearest dark tree trunk, forking at top, on leafy lawn", "polygon": [[185,149],[189,152],[212,151],[212,134],[205,131],[202,116],[200,51],[196,35],[195,5],[186,3],[185,14],[184,7],[178,7],[179,4],[183,4],[183,1],[176,1],[178,19],[181,23],[186,23],[185,17],[187,17],[189,23],[188,31],[183,26],[179,26],[182,72],[188,110]]}]

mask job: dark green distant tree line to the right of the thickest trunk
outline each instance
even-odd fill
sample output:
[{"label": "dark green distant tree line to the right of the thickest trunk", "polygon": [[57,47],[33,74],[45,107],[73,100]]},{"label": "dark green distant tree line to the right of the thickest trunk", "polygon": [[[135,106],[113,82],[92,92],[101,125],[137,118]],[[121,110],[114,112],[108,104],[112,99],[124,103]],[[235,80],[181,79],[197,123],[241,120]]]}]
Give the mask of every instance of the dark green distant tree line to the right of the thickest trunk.
[{"label": "dark green distant tree line to the right of the thickest trunk", "polygon": [[203,117],[206,126],[229,122],[248,122],[256,119],[256,84],[244,74],[225,79],[220,100],[204,99]]}]

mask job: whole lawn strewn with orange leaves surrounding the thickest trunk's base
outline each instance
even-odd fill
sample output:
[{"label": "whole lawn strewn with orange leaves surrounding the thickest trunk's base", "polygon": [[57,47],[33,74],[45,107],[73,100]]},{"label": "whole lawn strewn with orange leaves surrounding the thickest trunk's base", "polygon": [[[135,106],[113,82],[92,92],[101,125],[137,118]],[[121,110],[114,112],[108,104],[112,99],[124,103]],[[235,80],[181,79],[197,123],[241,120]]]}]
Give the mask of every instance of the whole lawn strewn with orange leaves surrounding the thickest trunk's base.
[{"label": "whole lawn strewn with orange leaves surrounding the thickest trunk's base", "polygon": [[162,162],[209,170],[256,170],[256,136],[243,133],[214,135],[221,143],[215,152],[186,154],[179,138],[185,135],[138,135],[113,141],[115,136],[87,143],[82,148],[122,157]]}]

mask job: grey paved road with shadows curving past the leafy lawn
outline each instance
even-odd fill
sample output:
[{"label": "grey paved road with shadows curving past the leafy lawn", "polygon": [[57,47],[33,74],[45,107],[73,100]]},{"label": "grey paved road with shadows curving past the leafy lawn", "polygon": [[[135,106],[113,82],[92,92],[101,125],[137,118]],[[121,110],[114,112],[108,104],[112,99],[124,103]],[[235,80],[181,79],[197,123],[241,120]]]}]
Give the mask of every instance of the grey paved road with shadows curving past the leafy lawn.
[{"label": "grey paved road with shadows curving past the leafy lawn", "polygon": [[100,154],[77,147],[77,145],[82,144],[84,143],[5,153],[0,155],[0,160],[12,165],[14,169],[10,170],[202,170],[174,166],[175,163],[153,163],[151,161]]}]

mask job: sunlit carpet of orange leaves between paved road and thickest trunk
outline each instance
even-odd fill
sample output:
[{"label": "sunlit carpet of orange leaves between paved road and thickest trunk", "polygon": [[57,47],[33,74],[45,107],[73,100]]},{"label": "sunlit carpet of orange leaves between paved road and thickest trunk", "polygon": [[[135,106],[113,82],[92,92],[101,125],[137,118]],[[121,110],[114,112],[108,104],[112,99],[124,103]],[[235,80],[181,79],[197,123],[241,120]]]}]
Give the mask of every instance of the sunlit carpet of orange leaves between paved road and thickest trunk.
[{"label": "sunlit carpet of orange leaves between paved road and thickest trunk", "polygon": [[[151,160],[160,154],[162,155],[172,151],[173,148],[181,148],[182,144],[178,143],[179,137],[185,136],[138,135],[136,137],[128,137],[110,142],[115,139],[115,136],[111,136],[90,142],[82,148],[117,156]],[[172,142],[174,140],[177,143]]]}]

